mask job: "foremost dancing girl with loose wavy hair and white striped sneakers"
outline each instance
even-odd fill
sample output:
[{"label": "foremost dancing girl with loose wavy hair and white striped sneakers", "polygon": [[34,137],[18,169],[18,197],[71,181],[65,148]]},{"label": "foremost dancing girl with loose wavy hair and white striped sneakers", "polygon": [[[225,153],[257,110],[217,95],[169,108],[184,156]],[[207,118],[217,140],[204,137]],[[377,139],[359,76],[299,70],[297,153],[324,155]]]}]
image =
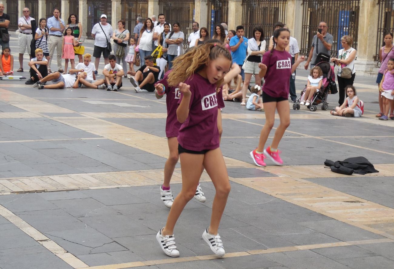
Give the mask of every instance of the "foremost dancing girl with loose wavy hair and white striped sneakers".
[{"label": "foremost dancing girl with loose wavy hair and white striped sneakers", "polygon": [[[179,256],[173,235],[175,224],[195,194],[203,167],[216,189],[211,223],[204,230],[203,239],[215,254],[225,254],[217,230],[230,192],[230,183],[219,148],[217,96],[220,96],[219,87],[229,82],[225,80],[225,75],[230,70],[231,62],[227,49],[207,43],[175,58],[172,72],[168,75],[168,85],[178,86],[181,93],[177,120],[182,123],[178,132],[182,190],[175,198],[167,222],[157,233],[156,239],[164,253],[171,257]],[[239,67],[232,68],[229,73],[237,72],[240,73]]]}]

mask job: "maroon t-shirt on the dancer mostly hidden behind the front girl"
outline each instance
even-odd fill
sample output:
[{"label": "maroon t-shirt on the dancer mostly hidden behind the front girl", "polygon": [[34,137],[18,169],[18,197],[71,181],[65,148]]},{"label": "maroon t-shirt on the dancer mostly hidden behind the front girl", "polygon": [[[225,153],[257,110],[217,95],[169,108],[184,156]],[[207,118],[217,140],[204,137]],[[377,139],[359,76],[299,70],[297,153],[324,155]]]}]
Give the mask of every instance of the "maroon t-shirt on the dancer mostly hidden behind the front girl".
[{"label": "maroon t-shirt on the dancer mostly hidden behind the front girl", "polygon": [[165,121],[165,135],[167,137],[177,137],[180,128],[180,122],[177,119],[178,101],[180,98],[180,91],[177,87],[168,86],[167,78],[171,70],[164,74],[164,78],[157,83],[165,86],[165,94],[167,97],[165,103],[167,104],[167,120]]}]

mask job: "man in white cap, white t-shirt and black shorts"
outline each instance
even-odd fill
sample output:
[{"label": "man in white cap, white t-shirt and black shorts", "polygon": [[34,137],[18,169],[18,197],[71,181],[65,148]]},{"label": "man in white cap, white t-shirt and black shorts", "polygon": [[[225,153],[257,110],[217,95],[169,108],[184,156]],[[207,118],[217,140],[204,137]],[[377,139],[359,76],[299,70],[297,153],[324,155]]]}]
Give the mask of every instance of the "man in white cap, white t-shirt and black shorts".
[{"label": "man in white cap, white t-shirt and black shorts", "polygon": [[95,39],[95,49],[93,50],[93,57],[95,57],[95,67],[99,69],[101,54],[104,57],[104,63],[108,64],[108,56],[110,51],[107,49],[108,42],[111,41],[111,36],[113,34],[111,24],[107,23],[107,15],[102,14],[100,16],[100,22],[96,23],[92,29],[92,37]]}]

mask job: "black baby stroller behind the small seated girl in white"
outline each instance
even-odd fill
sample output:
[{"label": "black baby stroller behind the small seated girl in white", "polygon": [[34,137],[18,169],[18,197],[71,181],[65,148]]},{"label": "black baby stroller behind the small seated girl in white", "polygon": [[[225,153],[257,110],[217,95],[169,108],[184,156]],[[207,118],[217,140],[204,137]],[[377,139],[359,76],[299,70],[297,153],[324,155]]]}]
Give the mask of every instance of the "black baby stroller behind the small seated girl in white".
[{"label": "black baby stroller behind the small seated girl in white", "polygon": [[[320,91],[313,95],[310,105],[307,106],[310,111],[316,111],[317,105],[319,104],[322,104],[322,110],[328,110],[327,97],[328,94],[331,93],[331,82],[334,82],[335,84],[334,68],[329,63],[330,56],[327,54],[319,54],[318,57],[320,58],[320,62],[316,64],[316,66],[320,67],[323,71],[323,83]],[[301,108],[300,103],[306,90],[307,87],[305,85],[305,88],[302,90],[300,97],[298,97],[296,103],[293,104],[294,110],[299,110]]]}]

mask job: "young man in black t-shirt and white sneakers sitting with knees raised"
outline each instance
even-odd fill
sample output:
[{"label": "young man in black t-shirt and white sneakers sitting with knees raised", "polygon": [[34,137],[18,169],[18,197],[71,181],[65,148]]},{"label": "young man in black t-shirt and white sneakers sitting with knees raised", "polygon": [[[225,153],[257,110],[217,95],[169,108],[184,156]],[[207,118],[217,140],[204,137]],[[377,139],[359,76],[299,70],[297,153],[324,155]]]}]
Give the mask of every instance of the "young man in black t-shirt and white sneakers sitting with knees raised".
[{"label": "young man in black t-shirt and white sneakers sitting with knees raised", "polygon": [[136,92],[154,92],[154,84],[158,81],[160,67],[154,65],[151,55],[145,56],[145,64],[137,72],[130,70],[127,73],[134,76],[130,77],[130,82]]}]

